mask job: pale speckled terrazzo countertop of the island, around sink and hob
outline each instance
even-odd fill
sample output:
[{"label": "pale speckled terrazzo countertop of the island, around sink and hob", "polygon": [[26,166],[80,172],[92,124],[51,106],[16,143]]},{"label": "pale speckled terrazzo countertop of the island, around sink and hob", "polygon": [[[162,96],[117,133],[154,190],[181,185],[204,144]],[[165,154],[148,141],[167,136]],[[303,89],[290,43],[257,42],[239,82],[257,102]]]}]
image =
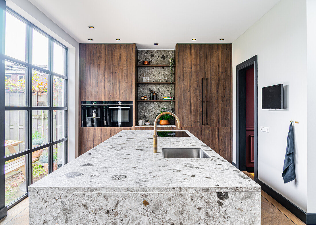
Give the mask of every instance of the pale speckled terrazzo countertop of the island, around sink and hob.
[{"label": "pale speckled terrazzo countertop of the island, around sink and hob", "polygon": [[[29,192],[224,192],[261,187],[198,138],[124,130],[29,186]],[[162,158],[162,147],[202,148],[210,158]]]}]

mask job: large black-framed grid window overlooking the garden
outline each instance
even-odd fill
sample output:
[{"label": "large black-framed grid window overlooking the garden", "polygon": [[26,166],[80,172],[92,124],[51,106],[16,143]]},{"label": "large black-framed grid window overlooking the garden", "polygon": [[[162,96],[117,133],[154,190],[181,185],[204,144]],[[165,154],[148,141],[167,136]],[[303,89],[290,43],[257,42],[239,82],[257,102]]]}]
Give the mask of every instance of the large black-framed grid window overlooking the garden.
[{"label": "large black-framed grid window overlooking the garden", "polygon": [[5,204],[68,162],[68,48],[6,8]]}]

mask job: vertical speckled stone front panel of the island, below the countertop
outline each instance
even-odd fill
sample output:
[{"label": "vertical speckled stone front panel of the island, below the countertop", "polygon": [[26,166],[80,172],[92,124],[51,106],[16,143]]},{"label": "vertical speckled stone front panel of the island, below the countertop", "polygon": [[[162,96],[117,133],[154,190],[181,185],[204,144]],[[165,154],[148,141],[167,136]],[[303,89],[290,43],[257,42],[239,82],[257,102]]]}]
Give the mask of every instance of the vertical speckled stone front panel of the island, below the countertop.
[{"label": "vertical speckled stone front panel of the island, below the countertop", "polygon": [[30,224],[259,225],[260,198],[260,192],[30,192]]}]

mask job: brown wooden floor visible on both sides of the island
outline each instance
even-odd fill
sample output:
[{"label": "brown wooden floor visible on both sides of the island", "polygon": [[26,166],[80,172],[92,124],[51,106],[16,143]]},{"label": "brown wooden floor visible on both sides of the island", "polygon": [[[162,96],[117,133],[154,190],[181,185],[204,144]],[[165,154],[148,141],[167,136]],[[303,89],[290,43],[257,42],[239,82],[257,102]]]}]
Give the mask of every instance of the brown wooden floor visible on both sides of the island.
[{"label": "brown wooden floor visible on both sides of the island", "polygon": [[[243,171],[248,177],[253,175]],[[28,198],[21,201],[8,211],[8,216],[0,221],[0,225],[28,224]],[[261,191],[261,225],[305,225],[267,193]]]}]

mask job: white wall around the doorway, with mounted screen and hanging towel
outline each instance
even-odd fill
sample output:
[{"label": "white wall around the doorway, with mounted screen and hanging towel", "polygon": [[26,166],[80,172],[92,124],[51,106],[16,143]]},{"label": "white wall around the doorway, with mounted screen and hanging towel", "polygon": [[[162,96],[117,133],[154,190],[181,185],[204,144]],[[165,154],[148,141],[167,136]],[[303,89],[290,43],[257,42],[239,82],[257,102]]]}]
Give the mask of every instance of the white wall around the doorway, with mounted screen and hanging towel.
[{"label": "white wall around the doorway, with mounted screen and hanging towel", "polygon": [[[270,133],[258,129],[258,179],[305,212],[306,29],[306,0],[281,0],[233,42],[233,161],[236,162],[236,65],[258,55],[258,127],[270,128]],[[280,83],[285,86],[287,109],[262,110],[261,88]],[[282,171],[290,120],[299,121],[294,125],[296,180],[284,184]]]}]

